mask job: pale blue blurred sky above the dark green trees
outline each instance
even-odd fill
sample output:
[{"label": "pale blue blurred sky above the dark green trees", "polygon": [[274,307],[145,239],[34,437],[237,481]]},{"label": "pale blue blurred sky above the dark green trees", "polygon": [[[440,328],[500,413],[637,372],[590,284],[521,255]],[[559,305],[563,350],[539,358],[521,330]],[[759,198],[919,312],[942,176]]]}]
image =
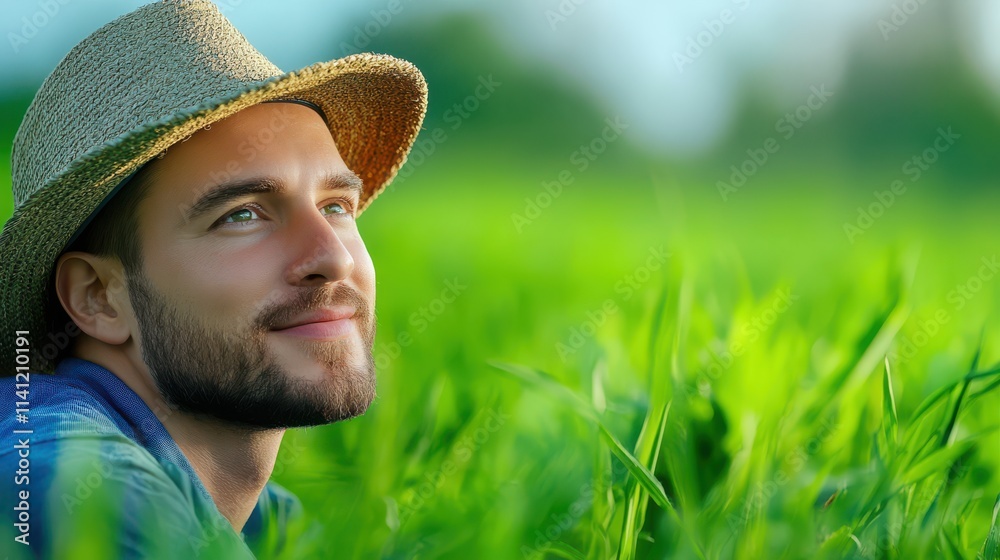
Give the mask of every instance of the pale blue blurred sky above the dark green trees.
[{"label": "pale blue blurred sky above the dark green trees", "polygon": [[[146,2],[17,0],[0,6],[0,95],[37,88],[59,59],[102,24]],[[1000,111],[1000,2],[994,0],[218,0],[259,50],[284,69],[335,58],[358,30],[450,12],[481,14],[511,53],[544,61],[633,123],[636,140],[676,156],[710,149],[748,84],[776,111],[813,87],[836,90],[858,57],[907,60],[958,40],[964,63]],[[388,11],[393,7],[395,14]],[[335,41],[330,41],[333,37]],[[290,38],[314,37],[323,40]],[[358,49],[362,50],[362,49]]]}]

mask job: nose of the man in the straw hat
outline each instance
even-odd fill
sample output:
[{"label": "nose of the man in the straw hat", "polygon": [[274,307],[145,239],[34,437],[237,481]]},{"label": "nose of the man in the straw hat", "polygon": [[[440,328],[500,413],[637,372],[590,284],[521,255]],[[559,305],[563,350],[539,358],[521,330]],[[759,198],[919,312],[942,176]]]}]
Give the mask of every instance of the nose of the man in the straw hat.
[{"label": "nose of the man in the straw hat", "polygon": [[304,212],[291,227],[289,250],[299,258],[289,267],[287,282],[315,286],[339,282],[351,275],[354,258],[336,228],[319,210]]}]

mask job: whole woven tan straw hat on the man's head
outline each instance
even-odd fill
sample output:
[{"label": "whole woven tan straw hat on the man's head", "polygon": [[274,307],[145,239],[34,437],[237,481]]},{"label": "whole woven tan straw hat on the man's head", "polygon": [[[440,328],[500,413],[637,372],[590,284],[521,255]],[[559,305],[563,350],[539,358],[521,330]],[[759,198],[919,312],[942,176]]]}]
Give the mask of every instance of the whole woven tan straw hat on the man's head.
[{"label": "whole woven tan straw hat on the man's head", "polygon": [[364,181],[360,212],[406,160],[427,86],[412,64],[386,55],[282,72],[208,0],[148,4],[76,45],[14,138],[14,215],[0,233],[0,375],[14,374],[15,331],[30,331],[33,371],[54,367],[45,346],[66,338],[47,332],[45,317],[56,259],[117,186],[206,125],[286,98],[325,113]]}]

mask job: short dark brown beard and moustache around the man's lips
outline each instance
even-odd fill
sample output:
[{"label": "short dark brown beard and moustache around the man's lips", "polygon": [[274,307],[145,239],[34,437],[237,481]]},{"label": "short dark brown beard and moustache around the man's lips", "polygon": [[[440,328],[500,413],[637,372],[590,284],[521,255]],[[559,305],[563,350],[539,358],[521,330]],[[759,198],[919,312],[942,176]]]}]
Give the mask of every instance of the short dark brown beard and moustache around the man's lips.
[{"label": "short dark brown beard and moustache around the man's lips", "polygon": [[[264,307],[248,330],[220,330],[187,316],[140,273],[126,271],[140,348],[164,400],[177,410],[254,429],[318,426],[363,414],[375,398],[375,316],[345,285],[301,291]],[[351,305],[361,344],[347,339],[303,345],[323,368],[319,380],[285,371],[268,350],[268,332],[318,307]]]}]

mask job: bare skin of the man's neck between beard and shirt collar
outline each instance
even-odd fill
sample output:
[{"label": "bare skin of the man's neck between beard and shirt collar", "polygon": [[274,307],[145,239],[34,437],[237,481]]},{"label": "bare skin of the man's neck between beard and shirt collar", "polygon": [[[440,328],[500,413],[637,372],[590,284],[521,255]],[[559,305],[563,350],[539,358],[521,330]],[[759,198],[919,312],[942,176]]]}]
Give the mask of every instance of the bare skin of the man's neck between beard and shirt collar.
[{"label": "bare skin of the man's neck between beard and shirt collar", "polygon": [[219,512],[237,533],[242,531],[274,470],[284,430],[254,430],[172,409],[147,372],[140,371],[129,356],[87,352],[81,346],[76,349],[77,357],[117,375],[156,414]]}]

